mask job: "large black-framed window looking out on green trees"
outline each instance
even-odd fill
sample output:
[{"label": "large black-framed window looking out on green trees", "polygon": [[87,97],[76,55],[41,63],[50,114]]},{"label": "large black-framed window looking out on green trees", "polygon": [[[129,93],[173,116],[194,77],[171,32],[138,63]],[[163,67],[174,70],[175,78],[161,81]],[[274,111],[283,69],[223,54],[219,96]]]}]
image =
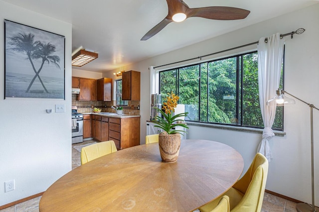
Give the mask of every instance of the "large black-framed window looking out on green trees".
[{"label": "large black-framed window looking out on green trees", "polygon": [[[187,121],[263,128],[257,59],[252,52],[160,71],[162,101],[177,93]],[[273,129],[283,130],[283,107],[277,107]]]}]

